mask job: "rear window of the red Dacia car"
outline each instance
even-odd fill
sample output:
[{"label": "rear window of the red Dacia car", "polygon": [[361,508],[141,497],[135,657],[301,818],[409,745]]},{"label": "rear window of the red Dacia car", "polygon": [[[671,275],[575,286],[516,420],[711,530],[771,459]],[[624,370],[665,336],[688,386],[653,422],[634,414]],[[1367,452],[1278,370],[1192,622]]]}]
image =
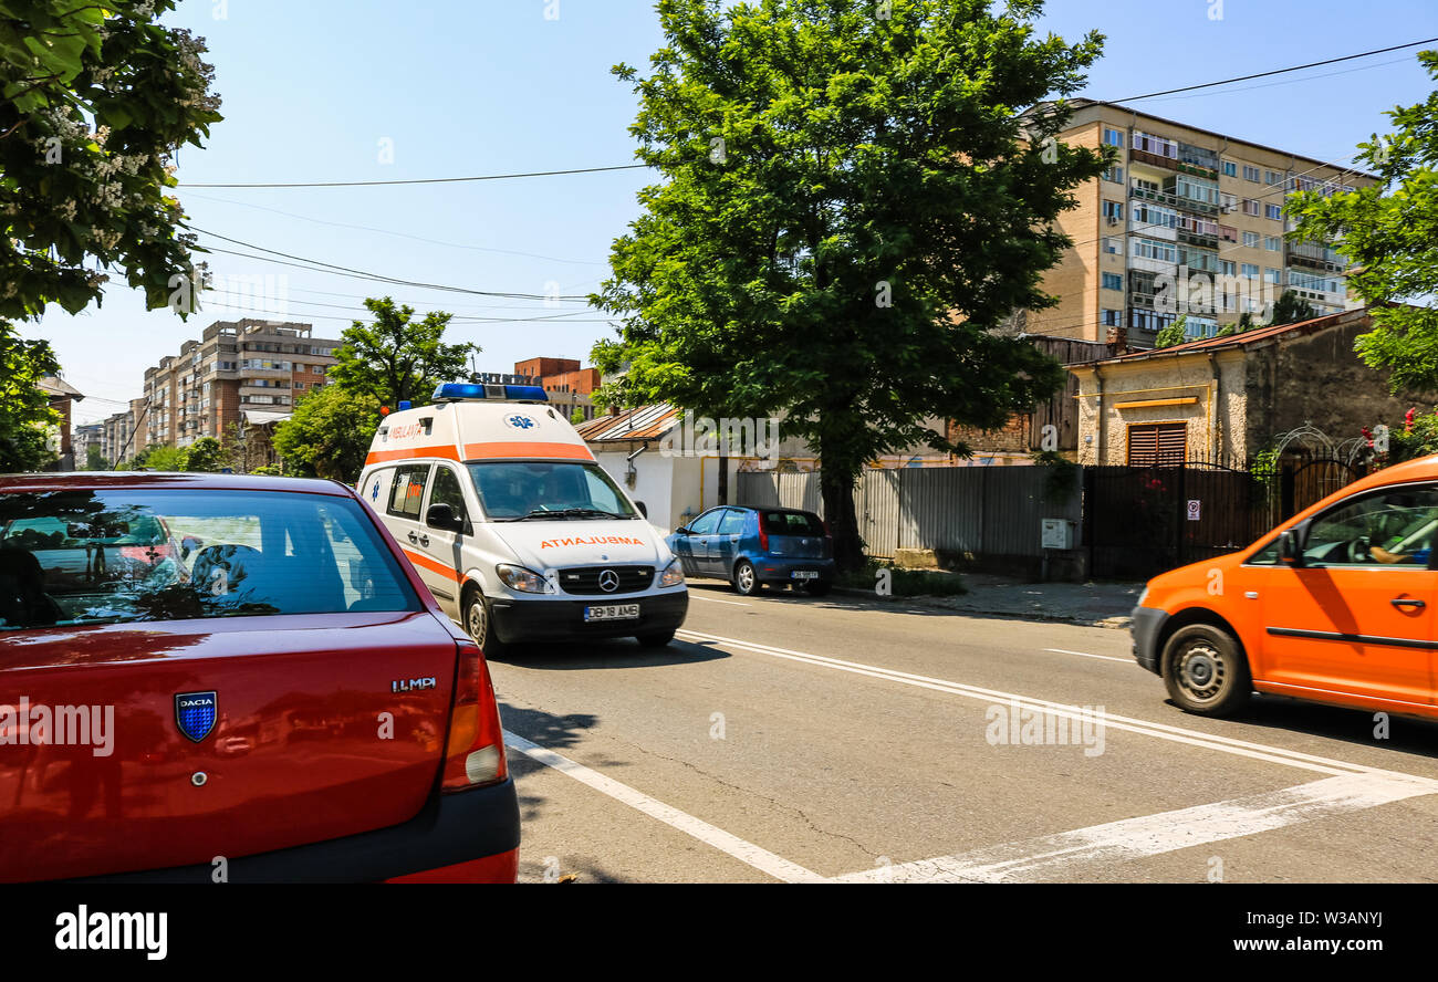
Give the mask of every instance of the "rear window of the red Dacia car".
[{"label": "rear window of the red Dacia car", "polygon": [[0,495],[0,631],[260,614],[413,611],[348,497],[247,490]]}]

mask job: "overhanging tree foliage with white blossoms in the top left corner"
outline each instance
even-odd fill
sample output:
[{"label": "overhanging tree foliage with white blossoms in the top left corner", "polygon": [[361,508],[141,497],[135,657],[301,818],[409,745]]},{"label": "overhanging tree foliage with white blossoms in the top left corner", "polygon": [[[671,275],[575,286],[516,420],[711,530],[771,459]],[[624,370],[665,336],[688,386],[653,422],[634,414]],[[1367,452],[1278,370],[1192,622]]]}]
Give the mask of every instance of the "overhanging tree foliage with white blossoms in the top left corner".
[{"label": "overhanging tree foliage with white blossoms in the top left corner", "polygon": [[203,42],[160,23],[174,6],[0,3],[0,316],[76,313],[109,269],[150,308],[193,309],[171,158],[220,114]]}]

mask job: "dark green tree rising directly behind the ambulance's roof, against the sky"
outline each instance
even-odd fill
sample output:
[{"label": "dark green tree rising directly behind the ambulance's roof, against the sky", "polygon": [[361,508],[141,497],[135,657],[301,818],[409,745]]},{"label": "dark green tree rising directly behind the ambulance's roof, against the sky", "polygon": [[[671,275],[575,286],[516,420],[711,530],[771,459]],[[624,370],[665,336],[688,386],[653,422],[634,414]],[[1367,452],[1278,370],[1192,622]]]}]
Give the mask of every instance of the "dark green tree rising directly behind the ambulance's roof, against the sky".
[{"label": "dark green tree rising directly behind the ambulance's roof, against the sky", "polygon": [[395,306],[388,296],[370,298],[364,305],[374,322],[355,321],[341,332],[344,345],[335,349],[339,364],[329,370],[334,382],[393,408],[404,400],[427,400],[436,384],[469,374],[470,352],[480,348],[444,344],[453,313],[434,311],[411,323],[414,308]]}]

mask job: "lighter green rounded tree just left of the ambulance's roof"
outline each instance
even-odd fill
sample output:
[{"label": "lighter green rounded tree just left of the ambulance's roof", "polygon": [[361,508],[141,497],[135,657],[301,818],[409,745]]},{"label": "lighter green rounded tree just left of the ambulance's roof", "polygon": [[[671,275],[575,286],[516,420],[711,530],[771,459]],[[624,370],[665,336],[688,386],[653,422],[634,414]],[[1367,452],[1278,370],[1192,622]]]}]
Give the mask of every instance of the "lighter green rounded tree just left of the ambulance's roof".
[{"label": "lighter green rounded tree just left of the ambulance's roof", "polygon": [[352,483],[378,428],[380,400],[325,385],[299,400],[295,413],[275,427],[273,443],[286,473]]}]

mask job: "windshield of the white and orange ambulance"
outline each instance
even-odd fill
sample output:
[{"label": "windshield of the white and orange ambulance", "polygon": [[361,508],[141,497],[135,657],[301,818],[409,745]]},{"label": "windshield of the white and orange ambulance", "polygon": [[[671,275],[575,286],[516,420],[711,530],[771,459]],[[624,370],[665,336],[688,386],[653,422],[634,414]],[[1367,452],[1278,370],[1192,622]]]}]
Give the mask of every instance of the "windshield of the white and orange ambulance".
[{"label": "windshield of the white and orange ambulance", "polygon": [[510,460],[469,464],[485,515],[525,519],[613,519],[637,512],[598,464]]}]

